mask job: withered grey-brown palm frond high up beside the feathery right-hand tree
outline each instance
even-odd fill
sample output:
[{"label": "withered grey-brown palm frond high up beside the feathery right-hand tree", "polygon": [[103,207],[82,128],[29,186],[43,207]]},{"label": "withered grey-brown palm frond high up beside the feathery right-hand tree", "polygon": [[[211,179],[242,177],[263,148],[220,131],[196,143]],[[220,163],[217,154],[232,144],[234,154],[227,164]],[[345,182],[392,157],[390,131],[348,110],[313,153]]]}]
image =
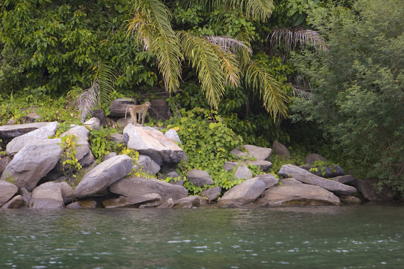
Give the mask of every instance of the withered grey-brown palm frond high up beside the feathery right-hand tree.
[{"label": "withered grey-brown palm frond high up beside the feathery right-hand tree", "polygon": [[325,44],[325,40],[323,37],[320,36],[320,33],[311,29],[305,29],[303,27],[294,29],[274,29],[268,35],[267,39],[269,39],[270,35],[271,46],[283,46],[283,49],[286,52],[293,50],[298,45],[312,45],[315,49],[322,49],[325,51],[328,50],[328,47]]}]

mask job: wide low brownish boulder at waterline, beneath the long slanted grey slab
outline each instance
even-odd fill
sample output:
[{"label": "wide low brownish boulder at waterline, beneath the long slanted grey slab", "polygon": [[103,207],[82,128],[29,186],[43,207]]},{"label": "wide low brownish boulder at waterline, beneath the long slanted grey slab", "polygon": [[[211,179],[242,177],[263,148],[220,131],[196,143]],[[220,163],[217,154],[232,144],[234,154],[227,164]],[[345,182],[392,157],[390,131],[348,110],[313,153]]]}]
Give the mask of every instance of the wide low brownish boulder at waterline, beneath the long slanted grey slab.
[{"label": "wide low brownish boulder at waterline, beneath the long slanted grey slab", "polygon": [[319,186],[301,183],[294,178],[281,180],[282,184],[270,188],[262,194],[257,205],[305,204],[339,205],[339,198]]}]

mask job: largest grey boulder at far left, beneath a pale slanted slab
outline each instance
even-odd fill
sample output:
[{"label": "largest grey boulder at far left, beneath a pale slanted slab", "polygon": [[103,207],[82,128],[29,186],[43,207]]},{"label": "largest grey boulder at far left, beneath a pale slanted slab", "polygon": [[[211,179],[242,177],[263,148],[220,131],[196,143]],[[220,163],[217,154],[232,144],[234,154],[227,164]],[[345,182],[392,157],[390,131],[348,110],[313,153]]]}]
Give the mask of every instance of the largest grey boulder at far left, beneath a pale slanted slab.
[{"label": "largest grey boulder at far left, beneath a pale slanted slab", "polygon": [[39,180],[56,166],[62,152],[57,143],[25,146],[6,167],[2,179],[9,175],[15,178],[17,187],[32,191]]}]

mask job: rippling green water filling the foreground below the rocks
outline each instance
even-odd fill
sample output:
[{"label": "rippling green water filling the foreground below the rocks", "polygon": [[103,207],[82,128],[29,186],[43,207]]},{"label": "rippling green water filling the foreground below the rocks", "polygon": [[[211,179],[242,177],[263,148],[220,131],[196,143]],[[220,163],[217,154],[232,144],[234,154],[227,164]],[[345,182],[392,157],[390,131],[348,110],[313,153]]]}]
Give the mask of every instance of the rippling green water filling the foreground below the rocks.
[{"label": "rippling green water filling the foreground below the rocks", "polygon": [[0,268],[404,268],[404,208],[0,209]]}]

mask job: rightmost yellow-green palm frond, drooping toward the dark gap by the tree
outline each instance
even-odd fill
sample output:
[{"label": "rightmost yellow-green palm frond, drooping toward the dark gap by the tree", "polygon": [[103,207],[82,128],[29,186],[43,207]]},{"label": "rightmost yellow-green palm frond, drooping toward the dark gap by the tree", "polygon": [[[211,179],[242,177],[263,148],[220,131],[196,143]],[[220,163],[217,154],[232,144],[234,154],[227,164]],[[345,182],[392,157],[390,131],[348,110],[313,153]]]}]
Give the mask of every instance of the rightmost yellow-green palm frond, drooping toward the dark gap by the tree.
[{"label": "rightmost yellow-green palm frond, drooping toward the dark gap by the tree", "polygon": [[287,103],[290,97],[283,90],[283,85],[275,80],[257,62],[250,62],[245,72],[245,83],[252,90],[258,91],[264,101],[264,107],[274,120],[287,118]]}]

